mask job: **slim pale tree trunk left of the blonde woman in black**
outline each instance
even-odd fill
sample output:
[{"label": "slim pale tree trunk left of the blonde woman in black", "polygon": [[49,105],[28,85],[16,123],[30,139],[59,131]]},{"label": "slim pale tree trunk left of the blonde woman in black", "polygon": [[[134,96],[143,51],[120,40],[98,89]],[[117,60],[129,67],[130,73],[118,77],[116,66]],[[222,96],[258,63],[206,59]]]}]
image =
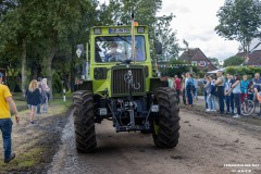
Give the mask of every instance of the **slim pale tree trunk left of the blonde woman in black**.
[{"label": "slim pale tree trunk left of the blonde woman in black", "polygon": [[22,98],[25,99],[26,92],[26,41],[23,38],[22,42]]}]

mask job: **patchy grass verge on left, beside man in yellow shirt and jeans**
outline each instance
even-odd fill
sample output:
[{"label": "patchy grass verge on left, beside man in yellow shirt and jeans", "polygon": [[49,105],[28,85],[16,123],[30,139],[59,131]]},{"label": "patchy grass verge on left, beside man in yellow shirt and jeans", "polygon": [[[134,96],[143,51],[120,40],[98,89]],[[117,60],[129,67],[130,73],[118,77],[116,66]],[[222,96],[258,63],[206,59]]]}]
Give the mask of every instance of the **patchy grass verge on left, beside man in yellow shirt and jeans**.
[{"label": "patchy grass verge on left, beside man in yellow shirt and jeans", "polygon": [[[13,121],[12,142],[16,157],[9,164],[3,162],[3,150],[0,150],[0,173],[34,172],[42,163],[50,162],[54,144],[59,141],[60,133],[66,122],[66,113],[72,105],[72,97],[63,101],[62,96],[54,96],[49,102],[48,113],[36,115],[36,124],[29,124],[29,110],[26,101],[16,100],[21,122]],[[2,138],[0,138],[2,147]],[[33,170],[33,171],[32,171]]]}]

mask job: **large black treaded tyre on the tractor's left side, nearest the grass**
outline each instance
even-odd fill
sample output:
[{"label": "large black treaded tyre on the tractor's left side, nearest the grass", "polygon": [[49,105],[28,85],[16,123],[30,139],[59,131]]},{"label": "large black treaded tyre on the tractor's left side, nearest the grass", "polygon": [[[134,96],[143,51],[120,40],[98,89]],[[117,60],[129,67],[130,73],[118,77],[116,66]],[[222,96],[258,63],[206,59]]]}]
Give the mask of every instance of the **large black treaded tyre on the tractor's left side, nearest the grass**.
[{"label": "large black treaded tyre on the tractor's left side, nearest the grass", "polygon": [[76,149],[79,152],[90,152],[97,146],[92,94],[76,91],[73,101]]}]

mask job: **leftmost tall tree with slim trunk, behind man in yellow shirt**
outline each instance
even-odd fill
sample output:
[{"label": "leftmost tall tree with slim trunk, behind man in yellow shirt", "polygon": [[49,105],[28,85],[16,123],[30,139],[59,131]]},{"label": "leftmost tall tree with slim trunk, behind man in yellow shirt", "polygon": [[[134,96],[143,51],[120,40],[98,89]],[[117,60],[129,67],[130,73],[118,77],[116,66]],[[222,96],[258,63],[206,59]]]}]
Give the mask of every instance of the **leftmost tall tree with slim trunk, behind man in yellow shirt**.
[{"label": "leftmost tall tree with slim trunk, behind man in yellow shirt", "polygon": [[[22,91],[25,97],[26,90],[26,42],[29,35],[29,15],[30,5],[26,0],[9,0],[4,1],[4,13],[1,15],[0,23],[0,36],[1,50],[7,49],[12,45],[13,50],[10,52],[20,50],[21,67],[22,67]],[[16,48],[15,48],[16,47]]]}]

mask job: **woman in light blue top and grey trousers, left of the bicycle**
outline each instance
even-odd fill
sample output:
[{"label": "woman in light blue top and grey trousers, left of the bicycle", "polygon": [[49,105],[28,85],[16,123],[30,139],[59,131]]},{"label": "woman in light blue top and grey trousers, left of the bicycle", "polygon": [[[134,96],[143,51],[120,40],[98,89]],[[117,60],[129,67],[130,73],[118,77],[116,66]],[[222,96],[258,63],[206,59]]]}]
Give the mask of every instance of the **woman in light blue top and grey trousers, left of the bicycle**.
[{"label": "woman in light blue top and grey trousers, left of the bicycle", "polygon": [[232,85],[231,90],[228,94],[233,91],[234,94],[234,99],[235,99],[235,104],[237,108],[237,114],[234,115],[233,117],[240,117],[241,114],[241,101],[240,101],[240,75],[236,74],[235,75],[235,83]]}]

